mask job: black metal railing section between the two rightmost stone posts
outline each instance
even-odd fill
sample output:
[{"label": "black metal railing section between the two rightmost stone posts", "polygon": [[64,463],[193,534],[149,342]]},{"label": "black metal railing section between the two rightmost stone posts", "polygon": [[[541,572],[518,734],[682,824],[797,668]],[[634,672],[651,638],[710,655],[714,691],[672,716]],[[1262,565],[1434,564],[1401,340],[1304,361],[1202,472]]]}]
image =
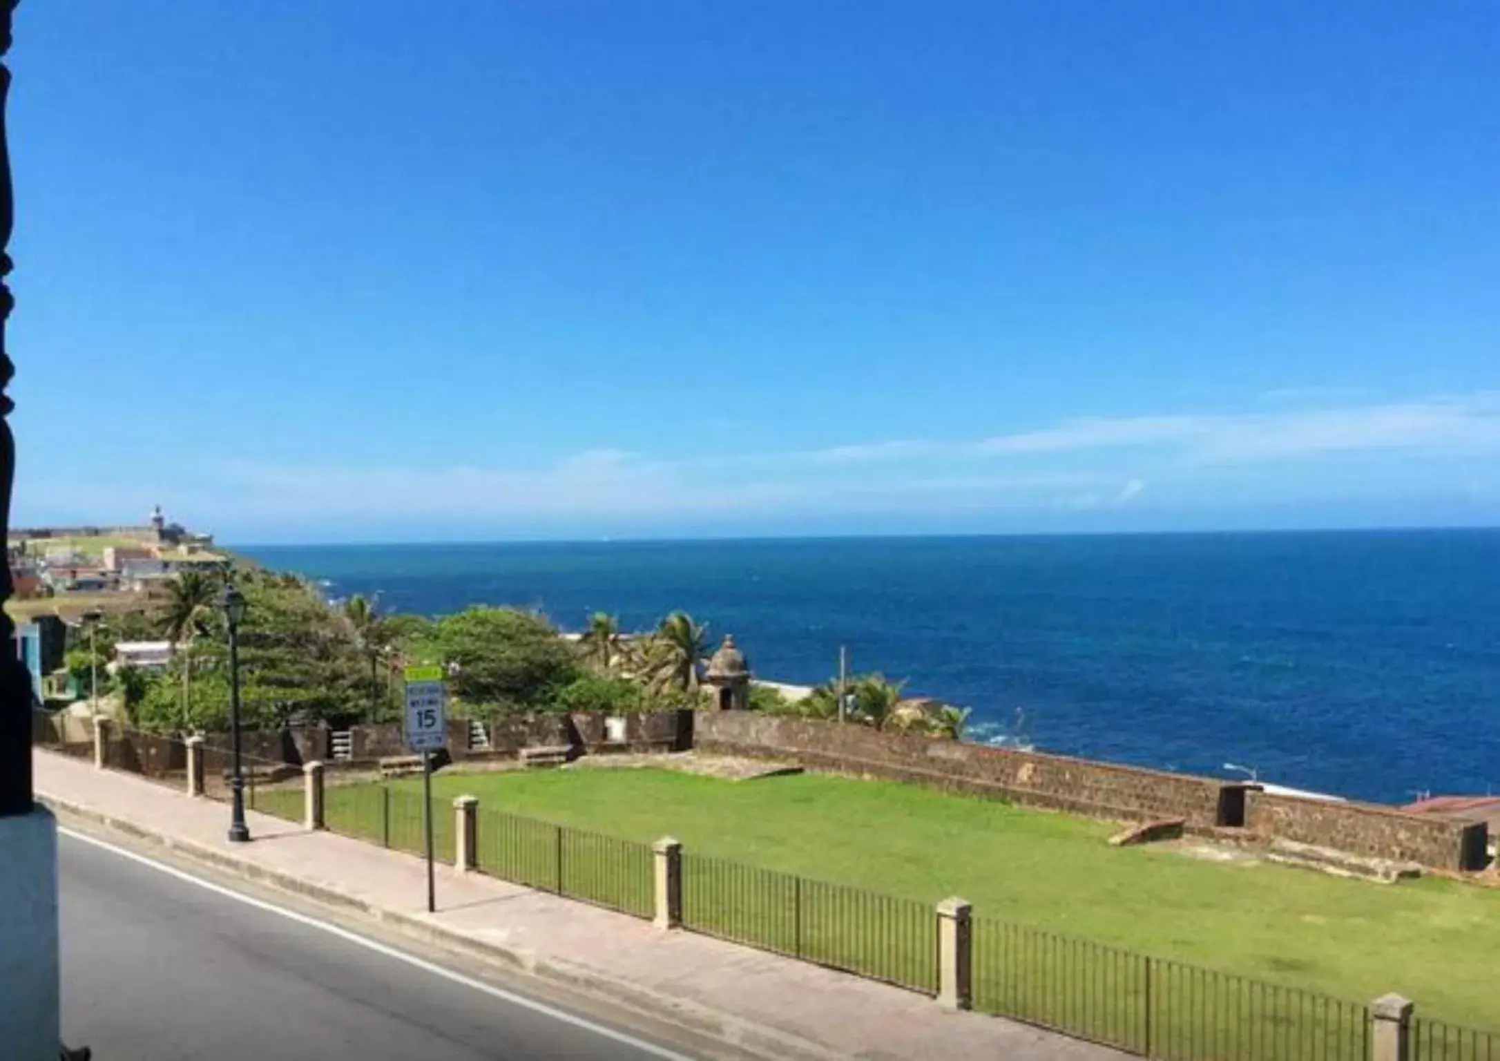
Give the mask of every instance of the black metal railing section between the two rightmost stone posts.
[{"label": "black metal railing section between the two rightmost stone posts", "polygon": [[974,1007],[1168,1061],[1365,1061],[1370,1010],[975,917]]}]

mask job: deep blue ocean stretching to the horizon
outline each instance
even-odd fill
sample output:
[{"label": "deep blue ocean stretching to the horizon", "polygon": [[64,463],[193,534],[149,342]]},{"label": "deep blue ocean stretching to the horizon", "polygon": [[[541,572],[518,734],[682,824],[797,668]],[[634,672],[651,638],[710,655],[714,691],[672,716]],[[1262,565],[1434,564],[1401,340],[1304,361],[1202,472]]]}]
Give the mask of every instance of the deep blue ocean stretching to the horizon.
[{"label": "deep blue ocean stretching to the horizon", "polygon": [[1500,791],[1500,531],[249,546],[388,611],[681,608],[759,677],[855,671],[970,737],[1404,803]]}]

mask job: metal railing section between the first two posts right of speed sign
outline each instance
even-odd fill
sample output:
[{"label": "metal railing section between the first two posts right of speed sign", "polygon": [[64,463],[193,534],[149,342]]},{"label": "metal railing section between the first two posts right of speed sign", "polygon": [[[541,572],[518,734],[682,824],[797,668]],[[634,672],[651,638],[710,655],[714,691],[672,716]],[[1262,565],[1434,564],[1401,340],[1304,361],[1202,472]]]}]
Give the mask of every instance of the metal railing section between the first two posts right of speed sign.
[{"label": "metal railing section between the first two posts right of speed sign", "polygon": [[654,911],[654,855],[645,843],[504,810],[480,810],[474,831],[482,873],[636,917]]}]

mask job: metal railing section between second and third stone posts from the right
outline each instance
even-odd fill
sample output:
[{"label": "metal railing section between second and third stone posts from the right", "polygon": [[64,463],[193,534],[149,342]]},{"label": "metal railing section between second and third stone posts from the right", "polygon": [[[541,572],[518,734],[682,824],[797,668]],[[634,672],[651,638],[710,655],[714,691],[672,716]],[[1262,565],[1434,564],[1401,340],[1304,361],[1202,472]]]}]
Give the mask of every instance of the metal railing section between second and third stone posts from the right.
[{"label": "metal railing section between second and third stone posts from the right", "polygon": [[687,852],[682,927],[938,993],[938,921],[915,899]]}]

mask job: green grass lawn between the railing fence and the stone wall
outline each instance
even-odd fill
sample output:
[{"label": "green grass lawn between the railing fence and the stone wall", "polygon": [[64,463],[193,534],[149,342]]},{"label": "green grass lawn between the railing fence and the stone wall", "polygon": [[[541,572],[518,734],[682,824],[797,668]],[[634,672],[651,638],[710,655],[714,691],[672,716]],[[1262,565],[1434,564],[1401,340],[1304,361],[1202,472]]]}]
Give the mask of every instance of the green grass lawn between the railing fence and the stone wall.
[{"label": "green grass lawn between the railing fence and the stone wall", "polygon": [[[393,789],[420,792],[420,779]],[[330,813],[354,801],[374,807],[376,794],[330,791]],[[1500,1025],[1500,893],[1479,887],[1440,879],[1377,885],[1150,846],[1112,848],[1106,839],[1114,827],[1106,822],[816,774],[736,783],[628,768],[446,771],[434,777],[434,794],[444,807],[468,794],[482,810],[639,842],[670,834],[688,855],[924,903],[958,894],[976,917],[1354,1002],[1398,990],[1422,1014]]]}]

